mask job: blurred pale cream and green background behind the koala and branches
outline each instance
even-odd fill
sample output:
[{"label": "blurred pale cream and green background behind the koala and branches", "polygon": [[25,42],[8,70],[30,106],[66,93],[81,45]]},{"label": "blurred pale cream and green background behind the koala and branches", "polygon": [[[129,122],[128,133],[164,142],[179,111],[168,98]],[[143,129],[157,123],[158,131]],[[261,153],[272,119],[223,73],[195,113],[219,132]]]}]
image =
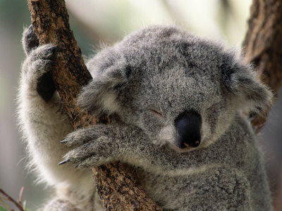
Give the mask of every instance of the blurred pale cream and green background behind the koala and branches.
[{"label": "blurred pale cream and green background behind the koala and branches", "polygon": [[[86,56],[102,43],[112,44],[125,34],[152,24],[176,24],[203,37],[224,40],[240,48],[247,30],[251,0],[66,0],[71,28]],[[26,1],[0,0],[0,188],[36,210],[50,190],[36,184],[25,170],[25,144],[17,127],[16,96],[20,64],[24,60],[21,36],[30,25]],[[266,152],[271,183],[281,167],[281,97],[269,114],[260,140]]]}]

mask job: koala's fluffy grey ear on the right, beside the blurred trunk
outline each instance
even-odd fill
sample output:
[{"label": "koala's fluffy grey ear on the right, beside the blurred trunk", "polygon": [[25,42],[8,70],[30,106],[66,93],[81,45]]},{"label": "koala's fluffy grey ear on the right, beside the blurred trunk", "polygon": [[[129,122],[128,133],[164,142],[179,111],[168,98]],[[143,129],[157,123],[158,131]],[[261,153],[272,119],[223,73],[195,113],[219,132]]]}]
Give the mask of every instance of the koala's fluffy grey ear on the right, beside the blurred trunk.
[{"label": "koala's fluffy grey ear on the right, beside the blurred trunk", "polygon": [[271,105],[273,94],[262,82],[251,65],[244,65],[241,59],[230,53],[223,58],[221,73],[228,91],[235,94],[240,108],[247,108],[256,114]]}]

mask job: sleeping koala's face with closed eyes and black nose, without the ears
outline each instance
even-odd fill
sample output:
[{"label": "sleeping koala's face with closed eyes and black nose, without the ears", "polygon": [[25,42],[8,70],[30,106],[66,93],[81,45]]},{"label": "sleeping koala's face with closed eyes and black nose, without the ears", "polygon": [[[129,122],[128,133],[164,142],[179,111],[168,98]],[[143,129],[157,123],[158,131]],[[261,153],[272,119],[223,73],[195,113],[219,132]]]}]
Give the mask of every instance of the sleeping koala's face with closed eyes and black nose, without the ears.
[{"label": "sleeping koala's face with closed eyes and black nose, without the ears", "polygon": [[155,143],[169,143],[179,151],[208,146],[235,113],[221,82],[219,55],[210,56],[209,46],[199,43],[185,54],[185,43],[160,45],[143,44],[143,53],[127,62],[132,73],[117,97],[122,105],[118,114]]}]

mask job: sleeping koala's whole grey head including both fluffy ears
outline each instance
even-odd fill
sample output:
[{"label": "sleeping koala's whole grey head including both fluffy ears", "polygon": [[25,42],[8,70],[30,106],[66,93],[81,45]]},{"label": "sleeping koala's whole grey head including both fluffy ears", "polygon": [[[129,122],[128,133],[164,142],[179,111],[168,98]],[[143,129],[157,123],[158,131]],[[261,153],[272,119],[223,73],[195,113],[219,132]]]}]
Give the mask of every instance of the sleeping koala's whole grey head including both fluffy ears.
[{"label": "sleeping koala's whole grey head including both fluffy ears", "polygon": [[208,146],[238,110],[258,112],[271,101],[235,54],[177,27],[147,27],[90,60],[93,79],[78,102],[95,115],[118,115],[154,143]]}]

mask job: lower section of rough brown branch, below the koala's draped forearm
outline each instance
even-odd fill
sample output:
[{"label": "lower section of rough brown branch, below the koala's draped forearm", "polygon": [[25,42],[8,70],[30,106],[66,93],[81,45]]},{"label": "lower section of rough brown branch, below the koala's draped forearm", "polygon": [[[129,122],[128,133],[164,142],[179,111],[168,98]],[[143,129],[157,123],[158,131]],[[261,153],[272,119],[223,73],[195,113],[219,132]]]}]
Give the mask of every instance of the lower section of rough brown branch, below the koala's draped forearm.
[{"label": "lower section of rough brown branch, below the koala's draped forearm", "polygon": [[130,167],[121,162],[109,163],[94,172],[95,182],[99,184],[97,191],[106,200],[107,210],[162,210],[140,191],[142,187],[133,175],[124,172],[130,172]]}]

